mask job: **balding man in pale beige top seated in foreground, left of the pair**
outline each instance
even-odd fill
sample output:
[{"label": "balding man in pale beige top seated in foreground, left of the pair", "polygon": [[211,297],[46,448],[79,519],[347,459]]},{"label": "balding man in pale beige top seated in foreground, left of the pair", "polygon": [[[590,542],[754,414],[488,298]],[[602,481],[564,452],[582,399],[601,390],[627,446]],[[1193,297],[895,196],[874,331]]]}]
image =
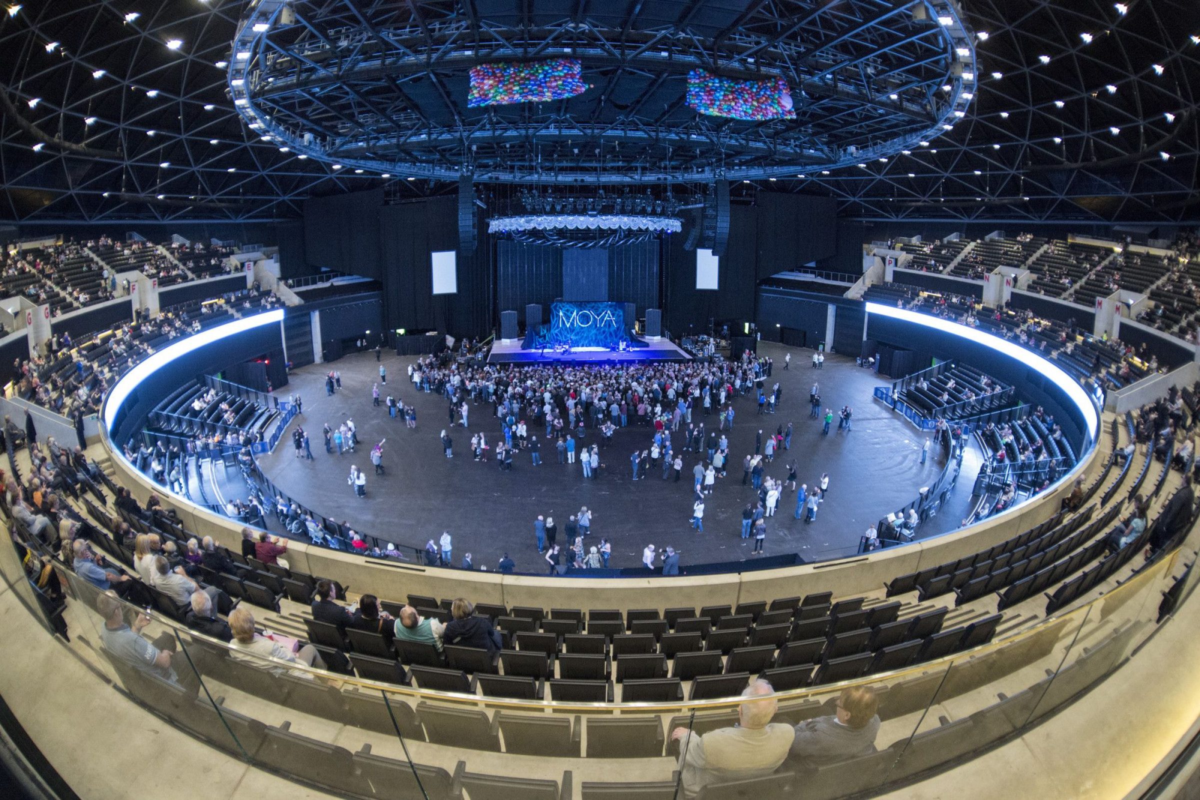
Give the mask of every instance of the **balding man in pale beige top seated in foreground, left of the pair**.
[{"label": "balding man in pale beige top seated in foreground, left of the pair", "polygon": [[787,758],[796,738],[792,726],[772,722],[778,703],[767,697],[774,690],[764,680],[751,681],[742,692],[748,699],[738,706],[738,724],[696,735],[676,728],[671,740],[679,742],[679,772],[685,798],[695,798],[709,783],[740,781],[770,775]]}]

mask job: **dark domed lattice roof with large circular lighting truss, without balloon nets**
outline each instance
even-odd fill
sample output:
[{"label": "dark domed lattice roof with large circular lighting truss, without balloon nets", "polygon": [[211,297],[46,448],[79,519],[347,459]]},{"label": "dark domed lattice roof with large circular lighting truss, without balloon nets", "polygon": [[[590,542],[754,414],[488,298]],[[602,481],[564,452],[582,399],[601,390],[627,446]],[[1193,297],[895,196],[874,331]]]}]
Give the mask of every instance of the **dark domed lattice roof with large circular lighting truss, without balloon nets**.
[{"label": "dark domed lattice roof with large circular lighting truss, without balloon nets", "polygon": [[[289,218],[463,172],[724,178],[871,219],[1200,219],[1194,0],[10,0],[0,47],[10,221]],[[468,108],[470,66],[564,55],[584,94]],[[785,78],[796,119],[697,114],[696,67]]]}]

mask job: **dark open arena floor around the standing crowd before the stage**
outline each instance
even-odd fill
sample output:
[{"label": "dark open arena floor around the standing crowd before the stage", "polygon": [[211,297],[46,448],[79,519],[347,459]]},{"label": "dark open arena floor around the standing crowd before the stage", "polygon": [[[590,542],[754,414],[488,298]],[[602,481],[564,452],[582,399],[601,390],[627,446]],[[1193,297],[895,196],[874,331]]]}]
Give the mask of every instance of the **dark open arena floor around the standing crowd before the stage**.
[{"label": "dark open arena floor around the standing crowd before the stage", "polygon": [[[289,437],[276,451],[260,459],[264,471],[292,497],[314,511],[346,519],[355,529],[384,536],[397,543],[424,547],[443,530],[454,537],[454,560],[458,564],[467,552],[475,567],[493,569],[500,554],[508,552],[518,571],[541,572],[533,523],[538,515],[553,516],[564,540],[568,517],[588,506],[594,513],[589,543],[600,537],[613,542],[611,566],[637,566],[647,543],[672,546],[680,561],[703,564],[738,561],[755,558],[752,540],[740,537],[740,515],[754,491],[742,486],[742,458],[754,452],[755,432],[766,433],[776,426],[794,425],[791,452],[768,465],[767,475],[787,476],[788,457],[799,465],[799,481],[809,483],[822,471],[830,476],[829,493],[816,522],[793,519],[796,493],[786,492],[779,512],[768,521],[766,553],[799,553],[806,561],[850,555],[857,551],[859,536],[868,525],[888,511],[916,497],[919,487],[936,477],[941,464],[930,458],[920,464],[923,437],[901,417],[875,403],[871,390],[880,379],[857,367],[852,359],[829,355],[822,371],[811,368],[811,350],[792,350],[792,368],[782,369],[782,345],[763,343],[760,353],[775,360],[773,378],[780,383],[782,399],[774,416],[760,417],[751,397],[736,402],[736,427],[731,438],[728,477],[718,479],[714,493],[706,501],[704,533],[695,533],[691,518],[691,468],[695,459],[684,459],[679,483],[661,480],[661,470],[650,480],[630,480],[629,455],[635,447],[649,447],[647,428],[624,428],[613,437],[613,445],[602,451],[600,476],[586,480],[578,464],[559,465],[553,447],[542,446],[542,465],[533,467],[527,452],[518,453],[511,471],[500,471],[494,461],[476,463],[469,455],[473,431],[482,429],[494,444],[499,422],[491,407],[473,407],[470,428],[450,431],[455,457],[442,453],[439,433],[448,422],[446,401],[433,393],[418,392],[407,380],[407,366],[413,356],[384,354],[383,363],[390,381],[380,386],[398,392],[406,403],[416,405],[418,427],[410,431],[390,420],[384,407],[373,408],[371,386],[378,379],[373,354],[341,359],[330,365],[312,365],[292,373],[290,384],[280,390],[299,392],[304,415],[298,419],[312,440],[314,461],[295,458]],[[342,391],[329,397],[324,377],[337,369]],[[808,395],[814,380],[821,384],[823,401],[835,410],[850,404],[854,410],[853,431],[838,433],[836,425],[828,437],[821,423],[809,419]],[[347,417],[358,426],[362,445],[355,453],[326,455],[322,425],[336,427]],[[694,421],[703,414],[694,413]],[[709,417],[716,425],[716,415]],[[295,425],[295,423],[293,423]],[[288,432],[290,434],[290,429]],[[530,431],[533,433],[533,431]],[[384,467],[386,475],[374,476],[368,458],[371,446],[386,438]],[[352,464],[367,470],[367,497],[354,497],[347,485]],[[956,528],[971,494],[978,470],[973,451],[948,507],[919,531],[922,537]]]}]

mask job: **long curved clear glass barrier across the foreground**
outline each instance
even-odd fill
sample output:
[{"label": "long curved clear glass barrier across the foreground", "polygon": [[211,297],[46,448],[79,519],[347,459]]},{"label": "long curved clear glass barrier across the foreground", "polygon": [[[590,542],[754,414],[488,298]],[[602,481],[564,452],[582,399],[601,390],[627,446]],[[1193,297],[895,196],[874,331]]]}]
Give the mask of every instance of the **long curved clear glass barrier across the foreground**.
[{"label": "long curved clear glass barrier across the foreground", "polygon": [[[36,610],[23,546],[0,549],[0,573]],[[468,674],[436,645],[397,660],[385,637],[376,655],[296,642],[245,601],[232,627],[217,618],[192,630],[136,581],[102,590],[48,564],[70,645],[130,700],[263,769],[396,800],[876,790],[992,747],[1086,692],[1145,642],[1180,577],[1166,558],[1036,627],[866,678],[888,662],[853,645],[814,667],[804,642],[788,654],[737,636],[672,651],[670,667],[654,636],[629,637],[616,657],[589,652],[587,636],[522,639],[498,657],[457,649]],[[936,654],[980,615],[950,612],[953,625],[912,646]]]}]

